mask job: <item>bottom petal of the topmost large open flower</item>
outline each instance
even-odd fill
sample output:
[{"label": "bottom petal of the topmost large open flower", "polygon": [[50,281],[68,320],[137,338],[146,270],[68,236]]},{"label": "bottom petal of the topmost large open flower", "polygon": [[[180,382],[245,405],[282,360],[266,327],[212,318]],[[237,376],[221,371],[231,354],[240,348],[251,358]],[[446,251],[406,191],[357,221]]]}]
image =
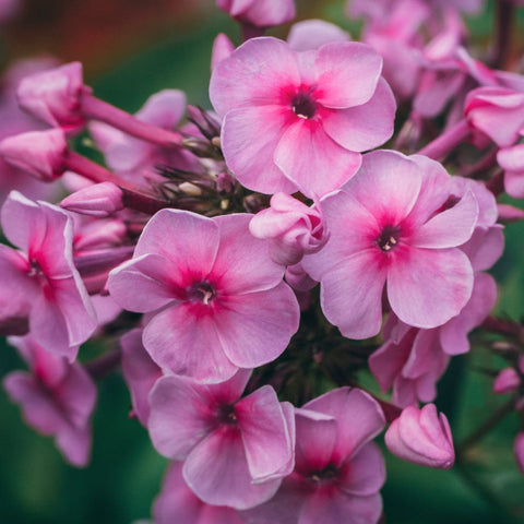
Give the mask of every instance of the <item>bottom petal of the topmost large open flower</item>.
[{"label": "bottom petal of the topmost large open flower", "polygon": [[355,175],[361,162],[358,153],[334,142],[320,121],[302,118],[287,128],[274,159],[286,177],[310,198],[338,189]]}]

